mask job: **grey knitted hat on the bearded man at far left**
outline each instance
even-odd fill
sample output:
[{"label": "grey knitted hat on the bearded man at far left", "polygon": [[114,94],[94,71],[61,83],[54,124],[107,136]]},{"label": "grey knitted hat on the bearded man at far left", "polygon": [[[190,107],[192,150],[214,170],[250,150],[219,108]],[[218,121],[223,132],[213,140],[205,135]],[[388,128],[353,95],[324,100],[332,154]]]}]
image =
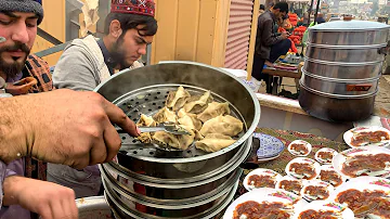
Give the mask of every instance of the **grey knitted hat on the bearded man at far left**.
[{"label": "grey knitted hat on the bearded man at far left", "polygon": [[43,20],[42,0],[0,0],[0,11],[36,13],[38,25]]}]

